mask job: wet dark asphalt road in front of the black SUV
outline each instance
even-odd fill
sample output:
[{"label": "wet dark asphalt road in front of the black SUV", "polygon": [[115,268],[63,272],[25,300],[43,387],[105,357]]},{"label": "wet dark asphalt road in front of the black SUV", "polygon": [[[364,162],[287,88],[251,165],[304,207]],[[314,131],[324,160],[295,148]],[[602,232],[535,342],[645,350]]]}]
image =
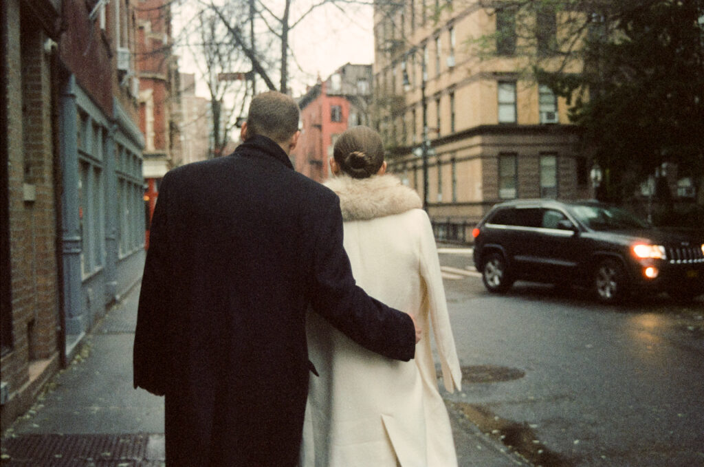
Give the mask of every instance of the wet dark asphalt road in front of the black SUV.
[{"label": "wet dark asphalt road in front of the black SUV", "polygon": [[603,306],[527,282],[499,296],[469,252],[440,257],[460,363],[517,378],[465,382],[445,394],[455,408],[544,466],[704,466],[702,298]]}]

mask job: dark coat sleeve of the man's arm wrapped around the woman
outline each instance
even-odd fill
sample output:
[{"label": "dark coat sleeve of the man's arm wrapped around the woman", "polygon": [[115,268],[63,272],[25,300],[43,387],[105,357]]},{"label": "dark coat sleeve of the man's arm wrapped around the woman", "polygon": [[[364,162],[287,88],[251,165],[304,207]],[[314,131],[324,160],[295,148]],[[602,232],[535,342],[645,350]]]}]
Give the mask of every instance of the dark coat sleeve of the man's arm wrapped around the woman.
[{"label": "dark coat sleeve of the man's arm wrapped around the woman", "polygon": [[342,214],[337,196],[315,229],[313,310],[361,346],[391,359],[415,355],[415,327],[406,313],[389,308],[364,292],[352,275],[342,244]]}]

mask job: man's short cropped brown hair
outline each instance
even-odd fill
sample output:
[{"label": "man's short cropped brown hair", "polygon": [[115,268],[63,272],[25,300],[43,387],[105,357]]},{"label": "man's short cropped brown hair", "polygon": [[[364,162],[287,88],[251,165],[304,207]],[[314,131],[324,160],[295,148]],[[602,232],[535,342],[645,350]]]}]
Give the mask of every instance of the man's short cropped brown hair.
[{"label": "man's short cropped brown hair", "polygon": [[258,94],[249,104],[246,137],[262,135],[277,143],[287,142],[298,131],[300,114],[291,96],[277,91]]}]

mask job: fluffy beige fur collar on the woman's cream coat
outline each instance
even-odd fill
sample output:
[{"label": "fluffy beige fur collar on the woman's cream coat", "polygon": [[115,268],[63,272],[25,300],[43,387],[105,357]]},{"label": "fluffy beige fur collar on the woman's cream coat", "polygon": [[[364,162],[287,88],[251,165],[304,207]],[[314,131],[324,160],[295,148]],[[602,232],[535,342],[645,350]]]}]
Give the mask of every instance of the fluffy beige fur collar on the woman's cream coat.
[{"label": "fluffy beige fur collar on the woman's cream coat", "polygon": [[370,220],[422,207],[415,190],[394,175],[370,178],[341,175],[327,180],[325,186],[340,197],[343,220]]}]

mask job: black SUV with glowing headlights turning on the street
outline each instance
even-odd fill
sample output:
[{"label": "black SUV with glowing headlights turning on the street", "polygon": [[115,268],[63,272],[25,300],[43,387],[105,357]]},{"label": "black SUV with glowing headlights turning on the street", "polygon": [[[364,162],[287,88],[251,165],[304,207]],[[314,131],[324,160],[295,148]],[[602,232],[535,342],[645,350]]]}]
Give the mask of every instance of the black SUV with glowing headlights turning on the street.
[{"label": "black SUV with glowing headlights turning on the street", "polygon": [[592,287],[605,302],[639,289],[676,299],[704,293],[703,238],[657,230],[596,201],[507,201],[472,236],[474,265],[491,292],[530,280]]}]

